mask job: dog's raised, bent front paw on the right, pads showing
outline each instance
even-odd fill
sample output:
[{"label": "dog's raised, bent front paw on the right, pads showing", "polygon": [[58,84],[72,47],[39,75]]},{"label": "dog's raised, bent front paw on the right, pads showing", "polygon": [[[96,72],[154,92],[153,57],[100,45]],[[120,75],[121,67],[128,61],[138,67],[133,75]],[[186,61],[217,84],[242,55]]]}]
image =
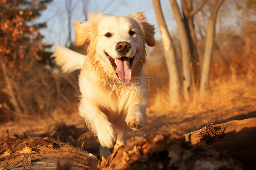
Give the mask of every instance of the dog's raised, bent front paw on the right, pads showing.
[{"label": "dog's raised, bent front paw on the right, pads showing", "polygon": [[134,104],[128,109],[125,122],[133,130],[143,127],[146,118],[146,106]]}]

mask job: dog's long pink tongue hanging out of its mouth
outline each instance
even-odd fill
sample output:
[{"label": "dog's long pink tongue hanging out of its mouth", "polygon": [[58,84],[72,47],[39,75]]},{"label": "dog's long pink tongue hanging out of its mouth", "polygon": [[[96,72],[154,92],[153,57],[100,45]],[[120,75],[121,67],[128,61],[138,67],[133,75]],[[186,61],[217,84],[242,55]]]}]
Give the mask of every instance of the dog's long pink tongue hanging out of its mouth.
[{"label": "dog's long pink tongue hanging out of its mouth", "polygon": [[124,62],[122,60],[116,59],[116,69],[119,79],[124,83],[128,84],[131,81],[132,70],[130,68],[129,59],[125,58]]}]

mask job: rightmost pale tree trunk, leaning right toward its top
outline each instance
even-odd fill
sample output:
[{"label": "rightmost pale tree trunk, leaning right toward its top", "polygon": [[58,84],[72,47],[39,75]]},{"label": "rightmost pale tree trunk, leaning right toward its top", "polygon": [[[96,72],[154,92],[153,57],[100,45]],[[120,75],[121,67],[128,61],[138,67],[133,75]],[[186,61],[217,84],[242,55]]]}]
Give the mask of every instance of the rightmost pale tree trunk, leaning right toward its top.
[{"label": "rightmost pale tree trunk, leaning right toward its top", "polygon": [[201,82],[200,82],[200,96],[204,96],[206,90],[209,88],[209,75],[210,67],[213,56],[213,47],[214,47],[214,38],[215,38],[215,23],[218,14],[218,9],[223,3],[224,0],[216,0],[213,4],[213,9],[211,10],[210,17],[208,20],[207,34],[205,41],[205,52],[201,73]]}]

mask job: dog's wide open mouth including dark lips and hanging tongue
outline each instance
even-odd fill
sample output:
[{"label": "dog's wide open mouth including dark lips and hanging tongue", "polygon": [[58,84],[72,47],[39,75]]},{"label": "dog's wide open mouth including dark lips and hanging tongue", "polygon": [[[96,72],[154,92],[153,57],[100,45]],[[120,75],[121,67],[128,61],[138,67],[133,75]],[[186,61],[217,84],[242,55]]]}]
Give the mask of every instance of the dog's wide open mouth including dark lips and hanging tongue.
[{"label": "dog's wide open mouth including dark lips and hanging tongue", "polygon": [[[136,50],[135,55],[137,54],[138,50]],[[107,56],[109,62],[111,63],[111,66],[115,70],[115,74],[117,77],[123,82],[124,84],[128,84],[131,81],[132,78],[132,64],[133,59],[135,55],[133,55],[132,58],[128,57],[121,57],[118,59],[112,58],[107,52],[105,52],[105,55]]]}]

